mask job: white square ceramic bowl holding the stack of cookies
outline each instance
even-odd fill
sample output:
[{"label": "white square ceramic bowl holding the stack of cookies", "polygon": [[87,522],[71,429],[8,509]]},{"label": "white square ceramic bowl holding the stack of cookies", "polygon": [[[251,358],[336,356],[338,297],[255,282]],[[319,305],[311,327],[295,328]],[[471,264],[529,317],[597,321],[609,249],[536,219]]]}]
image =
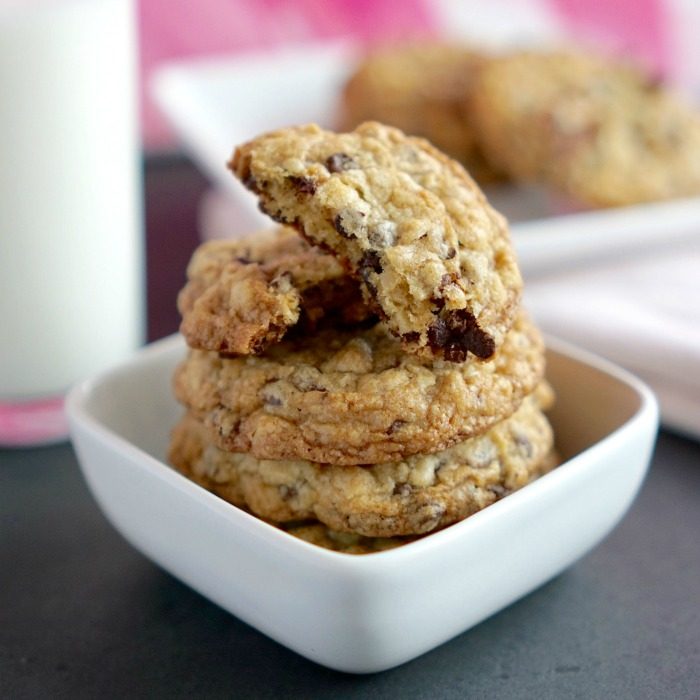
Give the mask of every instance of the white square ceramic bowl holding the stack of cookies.
[{"label": "white square ceramic bowl holding the stack of cookies", "polygon": [[178,337],[77,386],[67,402],[85,478],[105,515],[147,557],[303,656],[354,673],[408,661],[556,576],[621,519],[657,425],[651,392],[553,339],[548,377],[566,460],[467,520],[364,556],[298,540],[163,461],[181,409]]}]

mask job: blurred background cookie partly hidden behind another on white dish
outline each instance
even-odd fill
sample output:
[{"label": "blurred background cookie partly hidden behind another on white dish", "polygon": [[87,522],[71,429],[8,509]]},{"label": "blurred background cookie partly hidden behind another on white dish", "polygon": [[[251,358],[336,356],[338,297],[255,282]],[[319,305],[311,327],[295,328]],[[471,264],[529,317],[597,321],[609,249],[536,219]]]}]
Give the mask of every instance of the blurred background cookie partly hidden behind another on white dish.
[{"label": "blurred background cookie partly hidden behind another on white dish", "polygon": [[376,49],[343,88],[341,128],[370,120],[396,126],[428,139],[477,182],[501,179],[485,161],[470,123],[472,85],[485,60],[468,47],[437,41]]}]

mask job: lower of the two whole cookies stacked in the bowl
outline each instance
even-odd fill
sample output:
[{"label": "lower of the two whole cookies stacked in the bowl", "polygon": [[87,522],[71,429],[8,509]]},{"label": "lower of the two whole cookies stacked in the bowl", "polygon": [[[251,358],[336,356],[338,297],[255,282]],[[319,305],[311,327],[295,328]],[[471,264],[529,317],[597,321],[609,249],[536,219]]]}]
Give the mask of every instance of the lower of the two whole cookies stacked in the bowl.
[{"label": "lower of the two whole cookies stacked in the bowl", "polygon": [[272,522],[318,520],[365,537],[418,535],[463,520],[529,483],[552,449],[541,387],[483,435],[430,455],[368,466],[260,460],[226,452],[191,415],[170,460],[224,499]]}]

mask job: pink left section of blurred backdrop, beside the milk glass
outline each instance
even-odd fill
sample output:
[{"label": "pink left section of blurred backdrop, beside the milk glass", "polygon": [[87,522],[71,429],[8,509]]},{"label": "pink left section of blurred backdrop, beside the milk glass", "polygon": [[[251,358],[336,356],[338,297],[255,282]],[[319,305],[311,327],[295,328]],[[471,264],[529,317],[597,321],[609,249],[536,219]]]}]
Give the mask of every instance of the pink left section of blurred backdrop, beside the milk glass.
[{"label": "pink left section of blurred backdrop, beside the milk glass", "polygon": [[157,66],[176,58],[274,49],[305,40],[373,42],[438,29],[424,0],[139,0],[143,130],[148,147],[172,144],[146,87]]}]

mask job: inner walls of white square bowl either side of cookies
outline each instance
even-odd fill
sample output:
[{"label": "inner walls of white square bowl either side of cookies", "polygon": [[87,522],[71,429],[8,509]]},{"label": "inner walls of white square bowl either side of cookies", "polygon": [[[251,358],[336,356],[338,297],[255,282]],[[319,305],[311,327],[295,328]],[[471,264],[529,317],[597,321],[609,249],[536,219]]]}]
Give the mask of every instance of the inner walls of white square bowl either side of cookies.
[{"label": "inner walls of white square bowl either side of cookies", "polygon": [[[642,404],[622,378],[550,340],[547,377],[557,393],[550,413],[557,448],[570,459],[620,428]],[[94,420],[157,460],[164,461],[169,433],[182,413],[171,377],[184,356],[177,337],[160,341],[132,362],[96,379],[83,408]]]}]

